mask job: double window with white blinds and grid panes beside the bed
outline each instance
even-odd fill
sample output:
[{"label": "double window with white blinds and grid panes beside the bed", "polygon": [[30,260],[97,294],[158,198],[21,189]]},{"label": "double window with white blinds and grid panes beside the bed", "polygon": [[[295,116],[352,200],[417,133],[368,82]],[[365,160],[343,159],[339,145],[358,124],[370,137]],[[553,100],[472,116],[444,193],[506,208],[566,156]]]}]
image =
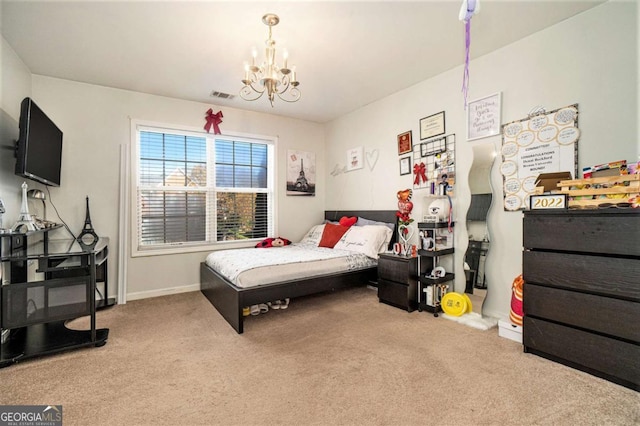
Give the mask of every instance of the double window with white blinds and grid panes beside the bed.
[{"label": "double window with white blinds and grid panes beside the bed", "polygon": [[273,140],[137,125],[135,141],[134,253],[274,234]]}]

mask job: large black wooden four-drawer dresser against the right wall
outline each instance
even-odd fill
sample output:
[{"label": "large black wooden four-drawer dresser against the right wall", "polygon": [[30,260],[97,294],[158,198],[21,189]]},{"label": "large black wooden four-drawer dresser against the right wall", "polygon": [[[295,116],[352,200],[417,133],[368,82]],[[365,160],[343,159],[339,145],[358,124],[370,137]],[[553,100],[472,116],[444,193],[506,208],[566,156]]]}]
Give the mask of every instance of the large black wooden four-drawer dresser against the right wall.
[{"label": "large black wooden four-drawer dresser against the right wall", "polygon": [[640,211],[527,211],[525,352],[640,390]]}]

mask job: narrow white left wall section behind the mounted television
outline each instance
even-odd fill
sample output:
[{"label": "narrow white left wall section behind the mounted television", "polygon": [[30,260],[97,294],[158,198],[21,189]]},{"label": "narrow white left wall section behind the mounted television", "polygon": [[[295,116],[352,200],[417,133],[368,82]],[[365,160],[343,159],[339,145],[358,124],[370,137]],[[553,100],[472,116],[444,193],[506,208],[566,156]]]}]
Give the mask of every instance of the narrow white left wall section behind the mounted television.
[{"label": "narrow white left wall section behind the mounted television", "polygon": [[[7,209],[3,217],[3,227],[11,228],[20,213],[20,185],[24,181],[13,173],[13,148],[15,140],[18,139],[20,102],[31,96],[31,71],[4,37],[0,39],[0,198]],[[41,187],[31,182],[29,186]]]}]

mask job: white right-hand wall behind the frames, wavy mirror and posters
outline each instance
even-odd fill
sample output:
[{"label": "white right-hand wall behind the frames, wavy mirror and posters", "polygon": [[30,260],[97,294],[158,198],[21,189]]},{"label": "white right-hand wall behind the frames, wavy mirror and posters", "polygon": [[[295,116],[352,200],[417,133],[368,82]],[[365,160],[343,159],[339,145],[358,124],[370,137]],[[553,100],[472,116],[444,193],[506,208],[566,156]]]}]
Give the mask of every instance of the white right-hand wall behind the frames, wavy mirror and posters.
[{"label": "white right-hand wall behind the frames, wavy mirror and posters", "polygon": [[[620,159],[636,161],[637,22],[635,2],[609,2],[474,59],[469,99],[502,92],[502,123],[525,118],[537,105],[553,110],[578,103],[579,169]],[[473,44],[471,49],[473,52]],[[420,118],[445,111],[447,133],[456,134],[454,218],[459,225],[464,223],[470,202],[467,177],[472,147],[493,143],[499,152],[501,139],[495,136],[465,140],[462,71],[462,67],[450,70],[327,125],[328,209],[396,209],[396,192],[412,187],[411,175],[399,176],[396,136],[412,130],[414,143],[419,142]],[[330,175],[345,164],[345,151],[355,146],[378,153],[374,170],[365,167]],[[506,317],[511,283],[522,272],[522,213],[501,208],[502,177],[497,167],[492,172],[492,184],[498,203],[489,214],[493,232],[487,260],[489,295],[484,311]],[[425,194],[426,190],[414,191],[414,218],[421,216]],[[455,244],[455,287],[456,291],[463,291],[462,262],[467,248],[464,226],[456,226]]]}]

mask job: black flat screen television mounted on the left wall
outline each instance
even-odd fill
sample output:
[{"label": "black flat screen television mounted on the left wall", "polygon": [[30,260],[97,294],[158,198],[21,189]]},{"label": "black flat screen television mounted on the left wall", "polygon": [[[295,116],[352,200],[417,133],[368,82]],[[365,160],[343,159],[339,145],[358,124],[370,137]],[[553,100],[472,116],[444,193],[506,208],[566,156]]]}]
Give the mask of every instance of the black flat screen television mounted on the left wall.
[{"label": "black flat screen television mounted on the left wall", "polygon": [[60,186],[62,131],[31,100],[20,108],[16,174],[49,186]]}]

